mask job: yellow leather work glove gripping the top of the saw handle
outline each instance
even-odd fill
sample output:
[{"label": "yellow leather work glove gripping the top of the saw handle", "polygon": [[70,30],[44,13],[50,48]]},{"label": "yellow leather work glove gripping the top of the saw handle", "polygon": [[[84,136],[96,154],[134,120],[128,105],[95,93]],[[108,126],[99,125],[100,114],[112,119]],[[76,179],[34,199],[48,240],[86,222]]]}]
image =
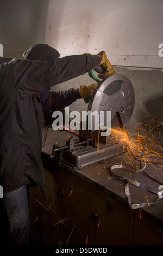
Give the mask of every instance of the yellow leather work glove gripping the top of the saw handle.
[{"label": "yellow leather work glove gripping the top of the saw handle", "polygon": [[106,53],[104,51],[99,52],[98,56],[101,56],[101,58],[102,58],[101,63],[99,63],[99,65],[102,66],[103,71],[104,71],[103,74],[99,74],[98,77],[104,78],[105,76],[115,74],[115,71],[114,71],[111,63],[109,62],[109,59],[106,57]]}]

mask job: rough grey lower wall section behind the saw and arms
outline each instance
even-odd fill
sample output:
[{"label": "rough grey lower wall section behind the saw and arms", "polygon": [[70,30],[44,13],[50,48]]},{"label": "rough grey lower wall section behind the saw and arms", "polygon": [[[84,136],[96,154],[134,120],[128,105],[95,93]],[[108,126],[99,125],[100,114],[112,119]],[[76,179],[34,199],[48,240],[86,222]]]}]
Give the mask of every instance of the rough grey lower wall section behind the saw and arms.
[{"label": "rough grey lower wall section behind the saw and arms", "polygon": [[[114,67],[116,74],[127,76],[134,86],[135,107],[128,130],[136,132],[139,127],[150,129],[156,125],[157,119],[163,121],[163,72],[158,69]],[[96,74],[96,73],[95,73]],[[80,84],[91,84],[95,81],[85,74],[71,81],[59,84],[52,90],[64,90],[65,88],[78,88]],[[70,111],[87,111],[87,103],[83,99],[77,100],[70,106]],[[147,127],[146,127],[147,125]]]}]

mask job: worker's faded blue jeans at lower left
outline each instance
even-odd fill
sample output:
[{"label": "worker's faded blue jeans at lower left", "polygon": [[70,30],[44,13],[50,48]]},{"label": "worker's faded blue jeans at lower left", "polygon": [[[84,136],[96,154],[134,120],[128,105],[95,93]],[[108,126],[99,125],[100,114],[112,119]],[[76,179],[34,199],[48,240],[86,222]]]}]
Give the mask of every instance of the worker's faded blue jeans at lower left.
[{"label": "worker's faded blue jeans at lower left", "polygon": [[1,215],[2,222],[3,218],[5,220],[3,225],[5,223],[7,244],[28,245],[30,221],[26,185],[18,188],[18,190],[3,193],[3,199],[4,208]]}]

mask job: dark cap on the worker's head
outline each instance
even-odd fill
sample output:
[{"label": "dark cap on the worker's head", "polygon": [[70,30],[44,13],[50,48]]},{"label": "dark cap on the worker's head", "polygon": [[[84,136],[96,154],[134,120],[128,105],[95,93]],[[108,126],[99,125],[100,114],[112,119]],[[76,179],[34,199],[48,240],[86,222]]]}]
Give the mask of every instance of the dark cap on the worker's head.
[{"label": "dark cap on the worker's head", "polygon": [[48,44],[34,44],[23,53],[23,57],[31,60],[54,60],[60,58],[60,53]]}]

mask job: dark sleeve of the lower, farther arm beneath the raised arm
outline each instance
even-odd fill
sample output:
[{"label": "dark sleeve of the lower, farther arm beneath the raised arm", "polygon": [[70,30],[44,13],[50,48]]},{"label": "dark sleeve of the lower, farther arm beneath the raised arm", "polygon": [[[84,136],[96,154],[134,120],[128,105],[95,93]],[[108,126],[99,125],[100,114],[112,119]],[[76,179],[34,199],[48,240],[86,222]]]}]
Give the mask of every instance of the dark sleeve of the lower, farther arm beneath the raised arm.
[{"label": "dark sleeve of the lower, farther arm beneath the raised arm", "polygon": [[49,110],[60,110],[64,107],[71,105],[71,103],[81,98],[79,94],[79,89],[74,88],[71,88],[69,90],[62,90],[59,92],[41,93],[39,96],[43,112]]}]

